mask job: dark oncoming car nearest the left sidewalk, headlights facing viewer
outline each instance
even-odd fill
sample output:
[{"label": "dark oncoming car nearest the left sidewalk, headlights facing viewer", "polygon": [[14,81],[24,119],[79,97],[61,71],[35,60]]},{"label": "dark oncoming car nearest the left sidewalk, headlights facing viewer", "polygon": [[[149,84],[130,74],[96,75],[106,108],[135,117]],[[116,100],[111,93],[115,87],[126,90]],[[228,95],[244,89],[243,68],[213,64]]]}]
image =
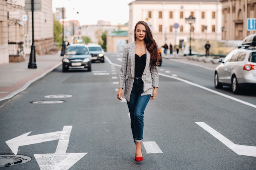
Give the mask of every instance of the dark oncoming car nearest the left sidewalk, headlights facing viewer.
[{"label": "dark oncoming car nearest the left sidewalk, headlights facing viewer", "polygon": [[62,71],[71,69],[84,69],[92,71],[92,56],[88,46],[85,44],[71,44],[67,46],[62,59]]}]

